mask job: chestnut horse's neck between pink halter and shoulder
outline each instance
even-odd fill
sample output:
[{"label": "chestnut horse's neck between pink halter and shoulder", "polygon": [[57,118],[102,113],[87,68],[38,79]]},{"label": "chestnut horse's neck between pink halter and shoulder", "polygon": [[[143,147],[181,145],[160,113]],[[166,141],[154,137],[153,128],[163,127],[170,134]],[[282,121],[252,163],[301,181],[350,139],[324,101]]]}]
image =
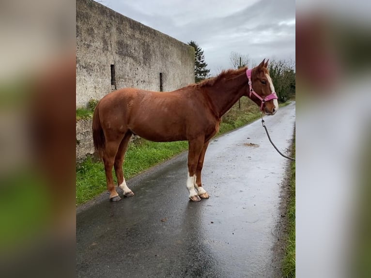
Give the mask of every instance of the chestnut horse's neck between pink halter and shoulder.
[{"label": "chestnut horse's neck between pink halter and shoulder", "polygon": [[245,94],[247,85],[246,74],[241,74],[231,80],[219,80],[208,90],[208,95],[220,118]]}]

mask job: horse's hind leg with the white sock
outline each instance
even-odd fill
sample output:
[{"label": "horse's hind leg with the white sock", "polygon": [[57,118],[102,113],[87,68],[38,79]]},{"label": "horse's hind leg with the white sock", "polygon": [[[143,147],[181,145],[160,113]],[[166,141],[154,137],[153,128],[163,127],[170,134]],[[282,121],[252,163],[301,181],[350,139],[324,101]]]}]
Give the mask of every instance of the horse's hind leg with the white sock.
[{"label": "horse's hind leg with the white sock", "polygon": [[133,134],[131,131],[126,132],[124,139],[120,143],[119,150],[117,151],[114,163],[117,185],[119,185],[119,187],[124,191],[124,196],[126,197],[134,196],[133,191],[131,191],[129,187],[127,187],[126,185],[123,172],[124,156],[127,150],[127,145],[129,143],[130,137],[132,135]]}]

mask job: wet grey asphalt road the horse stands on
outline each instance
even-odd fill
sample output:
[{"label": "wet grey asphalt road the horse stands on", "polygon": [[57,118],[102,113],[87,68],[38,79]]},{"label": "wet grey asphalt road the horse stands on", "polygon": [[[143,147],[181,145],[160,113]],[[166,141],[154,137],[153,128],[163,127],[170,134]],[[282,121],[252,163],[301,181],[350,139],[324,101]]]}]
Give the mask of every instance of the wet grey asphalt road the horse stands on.
[{"label": "wet grey asphalt road the horse stands on", "polygon": [[[264,120],[278,148],[289,148],[294,103]],[[77,277],[277,276],[289,163],[258,120],[211,141],[202,171],[208,200],[188,201],[186,153],[129,180],[134,197],[102,194],[77,208]]]}]

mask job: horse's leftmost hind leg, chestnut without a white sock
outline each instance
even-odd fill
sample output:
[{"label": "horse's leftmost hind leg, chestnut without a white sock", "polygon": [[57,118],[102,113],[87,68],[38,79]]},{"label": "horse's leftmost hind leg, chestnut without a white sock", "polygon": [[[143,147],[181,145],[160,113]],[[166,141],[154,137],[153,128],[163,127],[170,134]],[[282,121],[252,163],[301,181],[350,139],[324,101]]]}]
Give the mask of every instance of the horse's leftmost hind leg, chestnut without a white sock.
[{"label": "horse's leftmost hind leg, chestnut without a white sock", "polygon": [[107,190],[109,192],[109,200],[110,201],[120,201],[121,198],[115,189],[115,185],[113,184],[113,177],[112,177],[112,167],[113,162],[115,160],[115,156],[117,150],[119,148],[120,140],[115,141],[106,141],[106,147],[103,154],[103,163],[104,163],[104,170],[106,173],[106,181],[107,181]]}]

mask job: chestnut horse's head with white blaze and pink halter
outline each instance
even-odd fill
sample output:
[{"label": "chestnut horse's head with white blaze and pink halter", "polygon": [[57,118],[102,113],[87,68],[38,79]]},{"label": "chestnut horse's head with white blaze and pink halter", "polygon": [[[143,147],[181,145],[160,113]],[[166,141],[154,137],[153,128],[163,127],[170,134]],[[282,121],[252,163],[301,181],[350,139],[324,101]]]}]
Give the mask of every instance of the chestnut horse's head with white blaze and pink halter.
[{"label": "chestnut horse's head with white blaze and pink halter", "polygon": [[255,102],[265,115],[274,115],[278,111],[278,101],[273,82],[267,70],[265,59],[256,67],[248,69],[247,96]]}]

